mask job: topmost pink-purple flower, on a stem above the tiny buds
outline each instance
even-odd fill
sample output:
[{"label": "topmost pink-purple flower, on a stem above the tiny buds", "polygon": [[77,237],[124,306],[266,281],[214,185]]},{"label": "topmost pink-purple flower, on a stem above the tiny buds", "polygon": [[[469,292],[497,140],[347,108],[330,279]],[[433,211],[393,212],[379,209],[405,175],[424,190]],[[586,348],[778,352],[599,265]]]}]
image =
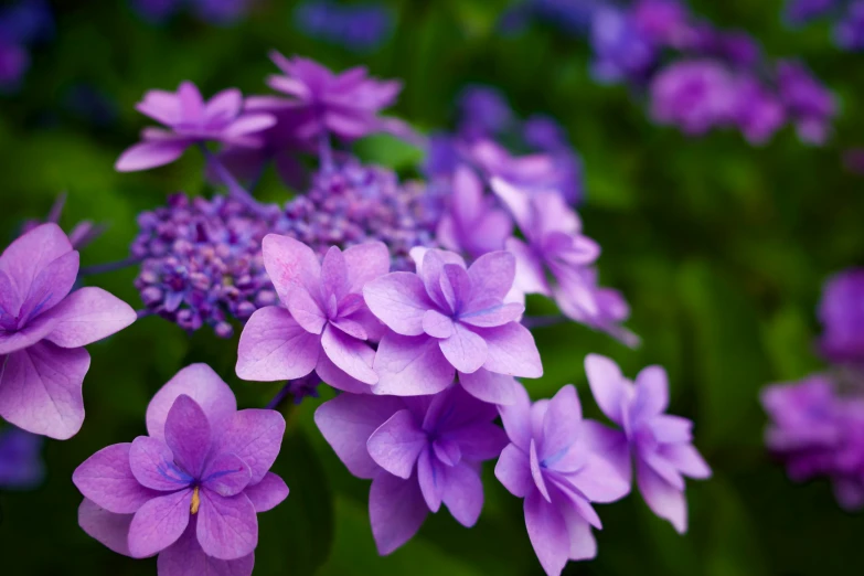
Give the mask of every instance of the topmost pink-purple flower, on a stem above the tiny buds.
[{"label": "topmost pink-purple flower, on a stem above the tiny buds", "polygon": [[333,74],[299,56],[288,60],[273,52],[270,57],[285,75],[270,76],[267,84],[294,98],[286,106],[302,111],[296,128],[301,139],[328,132],[353,139],[380,131],[378,111],[392,105],[402,90],[401,83],[371,78],[362,66]]}]

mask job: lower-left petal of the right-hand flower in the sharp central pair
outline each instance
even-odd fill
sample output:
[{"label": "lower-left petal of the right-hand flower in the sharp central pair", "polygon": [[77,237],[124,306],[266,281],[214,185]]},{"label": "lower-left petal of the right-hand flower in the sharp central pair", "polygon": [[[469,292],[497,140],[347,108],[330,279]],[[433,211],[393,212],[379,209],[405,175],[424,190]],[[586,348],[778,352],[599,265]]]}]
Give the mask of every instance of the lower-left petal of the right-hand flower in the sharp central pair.
[{"label": "lower-left petal of the right-hand flower in the sharp central pair", "polygon": [[387,332],[378,344],[373,369],[378,374],[375,394],[419,396],[437,394],[452,384],[456,370],[426,335],[403,337]]}]

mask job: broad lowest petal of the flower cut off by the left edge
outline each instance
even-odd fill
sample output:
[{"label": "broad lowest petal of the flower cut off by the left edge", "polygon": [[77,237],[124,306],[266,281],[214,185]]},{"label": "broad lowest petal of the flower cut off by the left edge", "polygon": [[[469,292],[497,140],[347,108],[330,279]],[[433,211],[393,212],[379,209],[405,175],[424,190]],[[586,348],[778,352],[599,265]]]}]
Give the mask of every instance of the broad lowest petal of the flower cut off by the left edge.
[{"label": "broad lowest petal of the flower cut off by the left edge", "polygon": [[83,348],[44,341],[8,354],[0,372],[0,416],[33,434],[72,438],[84,423],[82,383],[89,366]]}]

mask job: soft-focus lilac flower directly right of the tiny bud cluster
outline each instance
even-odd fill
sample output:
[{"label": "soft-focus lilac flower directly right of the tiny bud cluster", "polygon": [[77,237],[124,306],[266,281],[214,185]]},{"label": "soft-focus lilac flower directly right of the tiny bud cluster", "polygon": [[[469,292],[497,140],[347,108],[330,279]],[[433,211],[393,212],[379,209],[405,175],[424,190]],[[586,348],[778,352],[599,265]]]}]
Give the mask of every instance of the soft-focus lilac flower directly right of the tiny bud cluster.
[{"label": "soft-focus lilac flower directly right of the tiny bud cluster", "polygon": [[495,206],[493,198],[483,194],[483,182],[473,170],[457,168],[450,188],[450,210],[438,224],[441,246],[471,258],[503,249],[513,232],[513,221]]}]

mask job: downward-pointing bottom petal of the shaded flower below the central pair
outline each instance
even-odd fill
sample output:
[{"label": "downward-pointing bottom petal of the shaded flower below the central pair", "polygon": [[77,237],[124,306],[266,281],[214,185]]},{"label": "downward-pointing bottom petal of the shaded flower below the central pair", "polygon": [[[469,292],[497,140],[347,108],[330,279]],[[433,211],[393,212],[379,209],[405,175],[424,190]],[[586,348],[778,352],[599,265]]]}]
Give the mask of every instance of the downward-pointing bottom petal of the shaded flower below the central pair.
[{"label": "downward-pointing bottom petal of the shaded flower below the central pair", "polygon": [[369,519],[378,554],[386,556],[414,537],[428,513],[416,478],[403,480],[383,470],[375,476]]}]

